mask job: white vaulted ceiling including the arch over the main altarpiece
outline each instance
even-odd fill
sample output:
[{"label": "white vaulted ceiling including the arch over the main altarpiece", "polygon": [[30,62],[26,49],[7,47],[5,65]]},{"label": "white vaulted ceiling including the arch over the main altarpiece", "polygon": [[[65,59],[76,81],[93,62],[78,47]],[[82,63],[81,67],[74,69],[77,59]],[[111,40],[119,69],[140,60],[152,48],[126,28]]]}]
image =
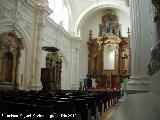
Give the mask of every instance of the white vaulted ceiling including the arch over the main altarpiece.
[{"label": "white vaulted ceiling including the arch over the main altarpiece", "polygon": [[78,31],[83,19],[93,12],[107,7],[120,9],[129,14],[129,0],[64,0],[70,9],[72,31]]}]

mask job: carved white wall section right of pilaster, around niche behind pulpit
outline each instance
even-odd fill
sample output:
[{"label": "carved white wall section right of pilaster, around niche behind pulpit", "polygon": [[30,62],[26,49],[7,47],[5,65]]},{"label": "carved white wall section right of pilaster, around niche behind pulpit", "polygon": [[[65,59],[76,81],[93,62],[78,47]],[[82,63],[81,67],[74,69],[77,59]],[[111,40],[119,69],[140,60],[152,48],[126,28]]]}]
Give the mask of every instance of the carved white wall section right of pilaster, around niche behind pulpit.
[{"label": "carved white wall section right of pilaster, around niche behind pulpit", "polygon": [[[79,74],[79,70],[75,63],[78,61],[76,57],[77,54],[75,55],[75,50],[78,50],[78,46],[76,47],[78,40],[71,37],[63,27],[56,24],[50,18],[46,19],[44,36],[42,46],[50,46],[60,49],[59,54],[62,56],[61,89],[77,89],[77,81],[79,81],[79,78],[76,76]],[[73,43],[73,41],[75,43]],[[42,51],[41,67],[46,66],[46,55],[47,52]]]}]

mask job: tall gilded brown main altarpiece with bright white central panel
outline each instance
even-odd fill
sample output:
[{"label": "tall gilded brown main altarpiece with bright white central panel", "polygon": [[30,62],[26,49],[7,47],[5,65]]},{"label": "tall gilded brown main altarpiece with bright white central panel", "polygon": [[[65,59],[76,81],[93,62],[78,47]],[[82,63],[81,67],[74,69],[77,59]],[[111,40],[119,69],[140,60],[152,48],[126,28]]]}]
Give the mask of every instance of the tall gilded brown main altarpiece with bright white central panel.
[{"label": "tall gilded brown main altarpiece with bright white central panel", "polygon": [[120,80],[130,76],[130,34],[121,36],[118,17],[106,10],[99,25],[99,35],[89,33],[88,76],[95,78],[97,88],[120,89]]}]

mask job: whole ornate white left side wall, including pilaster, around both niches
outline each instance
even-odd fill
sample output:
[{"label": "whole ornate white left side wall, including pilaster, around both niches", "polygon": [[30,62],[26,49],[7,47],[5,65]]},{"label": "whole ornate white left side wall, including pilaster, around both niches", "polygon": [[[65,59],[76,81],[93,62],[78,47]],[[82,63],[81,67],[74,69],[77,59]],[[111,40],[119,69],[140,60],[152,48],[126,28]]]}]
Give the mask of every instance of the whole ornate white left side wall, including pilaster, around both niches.
[{"label": "whole ornate white left side wall, including pilaster, around both niches", "polygon": [[71,89],[77,83],[79,73],[78,67],[71,66],[73,61],[77,61],[77,57],[72,54],[72,49],[79,51],[77,38],[70,36],[63,27],[48,17],[51,10],[47,6],[37,5],[35,1],[0,0],[0,11],[0,34],[15,30],[24,45],[18,68],[20,89],[42,88],[40,73],[41,68],[46,66],[47,54],[42,50],[43,46],[60,49],[63,60],[62,89]]}]

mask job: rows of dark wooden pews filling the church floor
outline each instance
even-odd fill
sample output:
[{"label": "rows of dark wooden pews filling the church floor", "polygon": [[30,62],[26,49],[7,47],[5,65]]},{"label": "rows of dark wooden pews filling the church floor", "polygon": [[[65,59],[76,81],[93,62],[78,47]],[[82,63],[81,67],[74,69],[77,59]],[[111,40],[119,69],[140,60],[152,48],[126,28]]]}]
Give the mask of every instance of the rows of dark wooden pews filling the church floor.
[{"label": "rows of dark wooden pews filling the church floor", "polygon": [[91,120],[115,105],[120,91],[0,91],[0,117]]}]

